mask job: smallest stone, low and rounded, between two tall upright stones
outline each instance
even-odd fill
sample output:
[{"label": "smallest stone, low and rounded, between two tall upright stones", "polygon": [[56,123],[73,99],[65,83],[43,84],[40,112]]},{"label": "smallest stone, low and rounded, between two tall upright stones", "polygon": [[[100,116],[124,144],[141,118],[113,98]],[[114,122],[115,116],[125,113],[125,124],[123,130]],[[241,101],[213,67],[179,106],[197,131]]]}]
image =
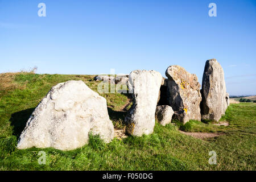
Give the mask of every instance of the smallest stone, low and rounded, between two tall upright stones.
[{"label": "smallest stone, low and rounded, between two tall upright stones", "polygon": [[166,126],[168,123],[171,123],[172,115],[174,115],[174,110],[172,110],[171,106],[156,106],[155,118],[160,123],[160,125]]}]

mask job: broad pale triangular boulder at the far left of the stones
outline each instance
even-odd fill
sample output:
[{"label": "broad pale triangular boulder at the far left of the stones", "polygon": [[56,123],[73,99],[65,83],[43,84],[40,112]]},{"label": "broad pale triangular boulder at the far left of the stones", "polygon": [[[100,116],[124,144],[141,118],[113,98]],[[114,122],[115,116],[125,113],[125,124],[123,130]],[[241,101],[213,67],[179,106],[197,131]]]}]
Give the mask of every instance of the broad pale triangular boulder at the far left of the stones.
[{"label": "broad pale triangular boulder at the far left of the stones", "polygon": [[88,143],[88,134],[105,142],[114,137],[106,99],[82,81],[53,86],[28,119],[18,140],[18,148],[73,150]]}]

